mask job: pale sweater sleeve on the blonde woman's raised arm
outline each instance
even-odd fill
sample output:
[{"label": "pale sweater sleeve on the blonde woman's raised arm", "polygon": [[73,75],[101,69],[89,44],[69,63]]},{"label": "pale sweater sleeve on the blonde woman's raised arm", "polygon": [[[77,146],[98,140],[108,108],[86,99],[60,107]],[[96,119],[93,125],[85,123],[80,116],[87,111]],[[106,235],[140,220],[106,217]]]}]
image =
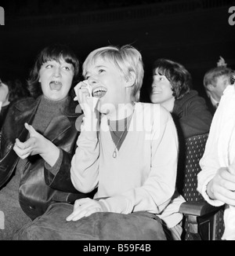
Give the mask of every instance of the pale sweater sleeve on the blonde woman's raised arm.
[{"label": "pale sweater sleeve on the blonde woman's raised arm", "polygon": [[[71,181],[80,192],[91,192],[98,185],[99,140],[98,119],[84,118],[76,152],[71,161]],[[92,129],[95,127],[95,129]]]}]

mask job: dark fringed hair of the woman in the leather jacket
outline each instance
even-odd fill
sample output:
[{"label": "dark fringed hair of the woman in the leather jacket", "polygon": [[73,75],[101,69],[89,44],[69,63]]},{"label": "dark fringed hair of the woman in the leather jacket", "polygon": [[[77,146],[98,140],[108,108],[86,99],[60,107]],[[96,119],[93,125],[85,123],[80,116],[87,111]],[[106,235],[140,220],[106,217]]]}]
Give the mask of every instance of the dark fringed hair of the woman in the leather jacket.
[{"label": "dark fringed hair of the woman in the leather jacket", "polygon": [[37,98],[38,96],[42,95],[42,87],[38,82],[39,71],[42,67],[42,64],[45,64],[45,62],[48,60],[56,60],[57,62],[60,62],[61,58],[67,63],[72,64],[74,67],[74,78],[70,90],[70,93],[72,93],[74,96],[73,88],[79,80],[79,60],[69,46],[54,44],[42,49],[34,62],[33,68],[30,71],[29,78],[27,79],[27,90],[32,97]]}]

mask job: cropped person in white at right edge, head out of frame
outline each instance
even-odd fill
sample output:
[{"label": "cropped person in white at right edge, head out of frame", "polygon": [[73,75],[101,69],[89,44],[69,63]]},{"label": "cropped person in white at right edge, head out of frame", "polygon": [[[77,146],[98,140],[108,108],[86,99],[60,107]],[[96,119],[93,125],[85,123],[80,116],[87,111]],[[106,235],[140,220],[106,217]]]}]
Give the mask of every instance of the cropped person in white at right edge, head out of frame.
[{"label": "cropped person in white at right edge, head out of frame", "polygon": [[222,240],[235,240],[234,110],[235,85],[229,85],[226,86],[213,117],[204,155],[200,161],[201,172],[197,174],[197,190],[204,199],[215,207],[225,205],[225,230]]}]

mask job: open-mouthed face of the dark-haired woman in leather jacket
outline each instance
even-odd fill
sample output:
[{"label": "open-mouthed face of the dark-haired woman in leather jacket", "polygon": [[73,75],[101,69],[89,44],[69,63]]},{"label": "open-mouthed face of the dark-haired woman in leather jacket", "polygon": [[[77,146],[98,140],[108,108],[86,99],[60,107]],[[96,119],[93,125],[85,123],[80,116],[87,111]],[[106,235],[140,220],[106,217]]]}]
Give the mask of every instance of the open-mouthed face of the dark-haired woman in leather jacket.
[{"label": "open-mouthed face of the dark-haired woman in leather jacket", "polygon": [[67,97],[74,77],[74,67],[63,59],[60,62],[48,60],[39,71],[43,95],[52,101]]}]

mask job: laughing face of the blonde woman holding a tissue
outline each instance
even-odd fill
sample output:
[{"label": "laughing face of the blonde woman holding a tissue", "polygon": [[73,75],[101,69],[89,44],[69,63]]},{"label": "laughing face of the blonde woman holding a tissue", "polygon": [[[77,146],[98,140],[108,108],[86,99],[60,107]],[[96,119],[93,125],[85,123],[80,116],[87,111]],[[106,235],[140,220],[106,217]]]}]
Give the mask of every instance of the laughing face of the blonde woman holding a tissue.
[{"label": "laughing face of the blonde woman holding a tissue", "polygon": [[130,101],[126,90],[128,82],[111,61],[98,57],[85,71],[85,79],[88,79],[89,85],[92,86],[92,96],[99,97],[102,113],[111,115],[119,104]]}]

